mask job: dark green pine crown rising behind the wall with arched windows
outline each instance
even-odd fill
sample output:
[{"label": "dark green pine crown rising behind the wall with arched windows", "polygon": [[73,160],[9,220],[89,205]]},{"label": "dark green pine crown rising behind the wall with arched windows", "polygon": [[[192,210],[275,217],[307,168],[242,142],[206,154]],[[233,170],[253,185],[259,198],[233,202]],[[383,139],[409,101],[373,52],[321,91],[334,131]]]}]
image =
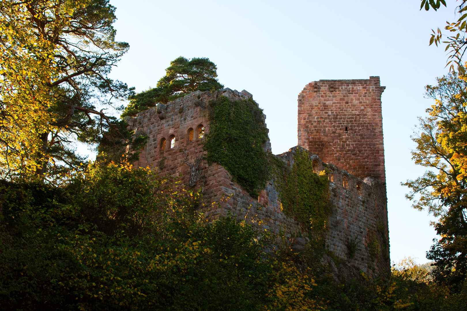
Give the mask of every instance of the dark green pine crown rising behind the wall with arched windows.
[{"label": "dark green pine crown rising behind the wall with arched windows", "polygon": [[224,88],[216,79],[217,67],[209,58],[178,57],[165,69],[166,74],[158,82],[157,87],[128,97],[130,104],[122,113],[122,117],[135,116],[138,112],[167,104],[171,100],[183,97],[196,90],[215,91]]}]

